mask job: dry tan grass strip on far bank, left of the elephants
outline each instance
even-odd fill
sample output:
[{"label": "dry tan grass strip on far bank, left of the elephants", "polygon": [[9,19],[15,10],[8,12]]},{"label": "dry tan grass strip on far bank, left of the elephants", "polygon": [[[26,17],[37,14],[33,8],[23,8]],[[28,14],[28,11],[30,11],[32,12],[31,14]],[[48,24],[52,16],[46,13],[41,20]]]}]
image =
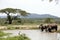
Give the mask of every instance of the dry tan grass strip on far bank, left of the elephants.
[{"label": "dry tan grass strip on far bank, left of the elephants", "polygon": [[39,25],[7,25],[7,26],[0,26],[0,29],[38,29]]}]

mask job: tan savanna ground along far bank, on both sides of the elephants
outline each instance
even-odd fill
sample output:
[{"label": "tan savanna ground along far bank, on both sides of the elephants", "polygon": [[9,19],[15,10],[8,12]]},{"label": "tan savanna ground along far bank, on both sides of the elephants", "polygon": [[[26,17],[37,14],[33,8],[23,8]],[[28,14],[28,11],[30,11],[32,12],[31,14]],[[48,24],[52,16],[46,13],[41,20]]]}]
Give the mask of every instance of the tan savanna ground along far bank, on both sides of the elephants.
[{"label": "tan savanna ground along far bank, on both sides of the elephants", "polygon": [[[0,29],[2,30],[35,30],[39,29],[40,24],[24,24],[24,25],[5,25],[5,26],[0,26]],[[58,24],[58,31],[60,32],[60,25]]]}]

